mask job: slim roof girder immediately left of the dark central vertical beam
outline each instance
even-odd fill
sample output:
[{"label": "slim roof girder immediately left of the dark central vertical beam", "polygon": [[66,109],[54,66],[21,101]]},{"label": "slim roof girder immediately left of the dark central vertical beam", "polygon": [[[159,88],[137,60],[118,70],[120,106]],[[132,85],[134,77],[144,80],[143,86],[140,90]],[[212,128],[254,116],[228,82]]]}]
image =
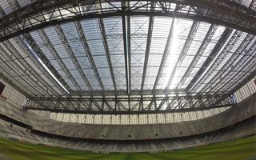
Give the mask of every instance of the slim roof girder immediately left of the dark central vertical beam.
[{"label": "slim roof girder immediately left of the dark central vertical beam", "polygon": [[103,39],[103,44],[104,44],[104,48],[105,48],[105,52],[106,52],[106,60],[107,60],[108,66],[110,68],[110,75],[111,75],[111,79],[113,82],[114,90],[117,90],[117,85],[116,85],[115,78],[114,78],[114,70],[113,70],[111,57],[110,57],[110,50],[109,50],[108,42],[106,39],[106,30],[105,30],[104,22],[103,22],[102,18],[98,18],[98,22],[99,22],[100,29],[102,31],[102,39]]}]

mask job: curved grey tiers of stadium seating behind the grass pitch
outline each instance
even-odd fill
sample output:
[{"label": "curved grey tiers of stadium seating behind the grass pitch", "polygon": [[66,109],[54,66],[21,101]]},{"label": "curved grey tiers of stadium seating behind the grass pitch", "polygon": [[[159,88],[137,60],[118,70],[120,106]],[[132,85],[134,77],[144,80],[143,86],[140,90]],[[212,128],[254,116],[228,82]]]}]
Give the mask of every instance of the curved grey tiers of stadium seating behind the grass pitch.
[{"label": "curved grey tiers of stadium seating behind the grass pitch", "polygon": [[[156,152],[202,146],[255,134],[255,97],[254,94],[238,106],[203,120],[137,126],[58,122],[1,100],[0,113],[26,126],[1,119],[0,135],[97,152]],[[234,124],[238,126],[229,128]]]}]

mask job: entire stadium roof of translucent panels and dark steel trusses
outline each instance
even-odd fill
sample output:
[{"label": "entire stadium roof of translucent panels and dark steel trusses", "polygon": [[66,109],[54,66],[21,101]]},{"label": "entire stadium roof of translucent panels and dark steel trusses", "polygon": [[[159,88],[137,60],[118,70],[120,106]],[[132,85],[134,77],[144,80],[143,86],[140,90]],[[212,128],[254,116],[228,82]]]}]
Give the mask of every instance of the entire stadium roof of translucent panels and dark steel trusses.
[{"label": "entire stadium roof of translucent panels and dark steel trusses", "polygon": [[230,106],[255,75],[255,10],[254,0],[2,0],[0,74],[37,110]]}]

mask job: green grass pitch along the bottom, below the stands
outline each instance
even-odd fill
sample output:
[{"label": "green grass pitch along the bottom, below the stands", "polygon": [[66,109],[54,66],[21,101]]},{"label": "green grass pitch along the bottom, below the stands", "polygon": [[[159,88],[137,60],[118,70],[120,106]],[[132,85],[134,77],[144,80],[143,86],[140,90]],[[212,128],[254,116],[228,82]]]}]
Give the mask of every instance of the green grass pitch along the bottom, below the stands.
[{"label": "green grass pitch along the bottom, below the stands", "polygon": [[159,154],[94,154],[79,150],[37,146],[0,138],[0,160],[256,160],[256,136]]}]

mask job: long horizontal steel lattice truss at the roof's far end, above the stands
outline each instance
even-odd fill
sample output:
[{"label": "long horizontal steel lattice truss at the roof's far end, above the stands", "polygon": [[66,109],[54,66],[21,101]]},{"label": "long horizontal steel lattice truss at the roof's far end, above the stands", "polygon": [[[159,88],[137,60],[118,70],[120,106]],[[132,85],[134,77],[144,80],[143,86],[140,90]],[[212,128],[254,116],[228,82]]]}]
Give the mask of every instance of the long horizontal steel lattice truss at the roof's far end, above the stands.
[{"label": "long horizontal steel lattice truss at the roof's far end, above the stands", "polygon": [[[61,113],[85,114],[155,114],[177,111],[209,110],[212,108],[234,106],[231,98],[217,102],[222,95],[197,95],[197,96],[151,96],[151,97],[100,97],[100,98],[27,98],[23,106],[29,110],[47,110]],[[164,99],[166,108],[157,110],[158,102]],[[170,101],[172,104],[170,104]],[[98,106],[100,102],[102,106]],[[128,108],[127,102],[132,103]],[[142,102],[146,107],[138,107]],[[115,107],[118,104],[119,107]],[[154,107],[151,107],[154,106]],[[169,106],[169,107],[167,107]]]}]

